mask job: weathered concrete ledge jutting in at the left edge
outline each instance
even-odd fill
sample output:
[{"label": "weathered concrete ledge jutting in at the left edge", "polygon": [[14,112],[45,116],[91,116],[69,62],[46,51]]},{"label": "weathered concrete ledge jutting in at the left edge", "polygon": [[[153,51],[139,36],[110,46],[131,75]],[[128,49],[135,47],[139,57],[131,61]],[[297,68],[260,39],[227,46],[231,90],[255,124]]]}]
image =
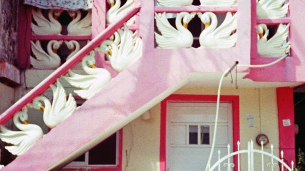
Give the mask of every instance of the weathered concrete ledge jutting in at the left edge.
[{"label": "weathered concrete ledge jutting in at the left edge", "polygon": [[0,78],[5,78],[12,84],[20,84],[19,69],[7,62],[0,62]]}]

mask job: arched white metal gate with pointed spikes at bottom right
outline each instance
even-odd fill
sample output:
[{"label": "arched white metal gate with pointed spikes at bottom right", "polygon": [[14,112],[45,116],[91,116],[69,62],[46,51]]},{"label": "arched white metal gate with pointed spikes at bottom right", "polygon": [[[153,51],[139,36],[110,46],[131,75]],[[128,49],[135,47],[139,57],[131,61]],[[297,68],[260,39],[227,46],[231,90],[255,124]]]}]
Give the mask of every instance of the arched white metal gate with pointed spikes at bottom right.
[{"label": "arched white metal gate with pointed spikes at bottom right", "polygon": [[[261,142],[262,144],[262,142]],[[248,171],[254,171],[254,153],[257,153],[257,154],[260,154],[261,155],[261,171],[264,171],[264,156],[268,156],[270,157],[270,161],[267,161],[268,163],[266,164],[266,166],[270,167],[270,171],[275,171],[275,169],[278,167],[280,168],[280,171],[284,171],[287,170],[287,171],[292,171],[293,170],[293,161],[291,161],[291,168],[284,162],[283,160],[283,151],[280,152],[280,155],[281,155],[281,159],[279,159],[278,157],[274,156],[273,154],[273,145],[270,146],[271,148],[271,153],[268,153],[268,152],[264,152],[263,151],[263,146],[261,145],[261,150],[256,150],[256,149],[253,149],[253,141],[249,141],[248,142],[248,145],[247,145],[247,150],[240,150],[239,148],[240,146],[240,143],[239,141],[237,142],[237,151],[236,152],[232,152],[230,153],[229,152],[229,149],[230,149],[230,146],[228,145],[227,148],[227,155],[222,157],[220,159],[220,152],[218,151],[218,161],[212,165],[210,167],[210,165],[208,166],[208,171],[213,171],[217,168],[218,171],[220,171],[221,169],[221,166],[220,164],[222,162],[226,162],[223,164],[223,167],[226,168],[226,171],[232,171],[232,168],[234,167],[234,164],[232,163],[232,161],[230,161],[230,158],[237,155],[237,171],[240,171],[240,154],[247,154],[247,170]],[[278,166],[278,164],[280,166]]]}]

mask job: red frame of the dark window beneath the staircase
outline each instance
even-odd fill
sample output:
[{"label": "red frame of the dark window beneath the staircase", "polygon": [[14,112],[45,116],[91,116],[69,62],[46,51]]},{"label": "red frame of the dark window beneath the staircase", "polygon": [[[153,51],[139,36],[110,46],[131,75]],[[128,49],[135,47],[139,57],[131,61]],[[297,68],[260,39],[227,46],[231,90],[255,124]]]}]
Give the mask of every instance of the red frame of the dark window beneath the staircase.
[{"label": "red frame of the dark window beneath the staircase", "polygon": [[118,165],[115,167],[70,167],[61,171],[122,171],[123,129],[118,131]]}]

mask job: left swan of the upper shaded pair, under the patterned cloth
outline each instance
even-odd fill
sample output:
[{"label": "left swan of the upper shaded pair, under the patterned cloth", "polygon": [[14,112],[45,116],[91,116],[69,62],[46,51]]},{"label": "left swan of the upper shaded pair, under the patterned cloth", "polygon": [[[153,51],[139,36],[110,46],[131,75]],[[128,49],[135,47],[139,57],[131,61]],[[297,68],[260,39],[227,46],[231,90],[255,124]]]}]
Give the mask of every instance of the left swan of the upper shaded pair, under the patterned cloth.
[{"label": "left swan of the upper shaded pair, under the patterned cloth", "polygon": [[[37,25],[31,23],[32,32],[35,34],[60,34],[61,32],[61,24],[58,22],[58,17],[61,14],[62,10],[57,9],[50,9],[48,11],[48,19],[47,20],[42,12],[41,9],[38,8],[36,11],[32,9],[32,16],[33,19],[36,21]],[[53,16],[54,15],[54,16]]]}]

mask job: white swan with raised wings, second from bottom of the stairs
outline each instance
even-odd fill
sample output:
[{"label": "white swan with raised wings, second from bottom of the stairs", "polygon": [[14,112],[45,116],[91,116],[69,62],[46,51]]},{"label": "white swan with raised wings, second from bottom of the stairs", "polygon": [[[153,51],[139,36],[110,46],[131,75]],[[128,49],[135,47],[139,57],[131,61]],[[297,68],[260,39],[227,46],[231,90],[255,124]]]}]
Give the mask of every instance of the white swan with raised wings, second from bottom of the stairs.
[{"label": "white swan with raised wings, second from bottom of the stairs", "polygon": [[[53,84],[50,85],[53,92],[52,104],[48,98],[38,96],[34,98],[32,105],[30,105],[30,107],[43,111],[43,122],[48,128],[56,127],[68,118],[76,109],[76,102],[72,94],[70,93],[68,100],[66,100],[66,94],[62,85],[58,79],[56,82],[57,87]],[[44,103],[44,106],[41,102]]]}]

